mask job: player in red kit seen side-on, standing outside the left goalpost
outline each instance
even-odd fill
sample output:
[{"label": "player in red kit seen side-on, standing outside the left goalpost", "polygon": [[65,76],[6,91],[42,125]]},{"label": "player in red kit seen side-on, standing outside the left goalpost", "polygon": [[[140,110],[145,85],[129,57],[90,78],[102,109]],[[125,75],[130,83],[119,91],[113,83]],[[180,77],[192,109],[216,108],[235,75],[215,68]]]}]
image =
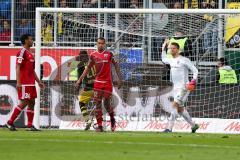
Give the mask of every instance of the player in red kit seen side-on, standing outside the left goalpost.
[{"label": "player in red kit seen side-on, standing outside the left goalpost", "polygon": [[40,88],[44,88],[44,84],[37,77],[35,69],[34,55],[30,52],[30,47],[33,45],[32,36],[29,34],[24,34],[21,36],[21,43],[23,48],[17,53],[16,59],[16,79],[17,79],[17,90],[18,98],[20,103],[14,108],[10,119],[8,120],[6,126],[11,131],[16,131],[14,126],[14,121],[20,115],[22,110],[27,108],[28,117],[28,129],[29,131],[38,131],[33,126],[34,117],[34,105],[35,98],[37,97],[37,92],[35,88],[35,80],[37,81]]}]

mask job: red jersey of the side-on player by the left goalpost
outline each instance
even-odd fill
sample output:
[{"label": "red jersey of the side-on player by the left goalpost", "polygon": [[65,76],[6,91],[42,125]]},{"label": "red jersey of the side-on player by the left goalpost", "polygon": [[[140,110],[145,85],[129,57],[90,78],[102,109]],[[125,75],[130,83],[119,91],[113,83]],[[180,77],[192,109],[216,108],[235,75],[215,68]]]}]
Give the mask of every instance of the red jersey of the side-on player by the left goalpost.
[{"label": "red jersey of the side-on player by the left goalpost", "polygon": [[35,60],[33,54],[22,48],[17,53],[16,64],[20,64],[20,82],[22,85],[35,85]]}]

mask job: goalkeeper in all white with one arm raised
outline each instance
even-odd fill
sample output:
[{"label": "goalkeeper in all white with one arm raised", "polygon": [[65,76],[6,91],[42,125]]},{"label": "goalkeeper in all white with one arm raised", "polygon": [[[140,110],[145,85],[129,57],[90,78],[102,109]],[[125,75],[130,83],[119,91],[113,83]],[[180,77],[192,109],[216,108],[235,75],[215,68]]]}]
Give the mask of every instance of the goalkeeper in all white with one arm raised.
[{"label": "goalkeeper in all white with one arm raised", "polygon": [[[189,95],[189,91],[194,90],[196,86],[198,70],[188,58],[180,55],[180,46],[178,43],[173,42],[170,44],[173,58],[168,58],[165,51],[167,43],[169,43],[168,39],[165,40],[162,46],[162,61],[163,63],[171,66],[174,102],[172,105],[173,110],[171,111],[168,127],[164,132],[172,132],[174,122],[179,114],[191,125],[192,133],[195,133],[199,128],[199,125],[192,121],[187,109],[184,108],[184,103]],[[189,70],[193,73],[193,79],[190,82],[188,82]]]}]

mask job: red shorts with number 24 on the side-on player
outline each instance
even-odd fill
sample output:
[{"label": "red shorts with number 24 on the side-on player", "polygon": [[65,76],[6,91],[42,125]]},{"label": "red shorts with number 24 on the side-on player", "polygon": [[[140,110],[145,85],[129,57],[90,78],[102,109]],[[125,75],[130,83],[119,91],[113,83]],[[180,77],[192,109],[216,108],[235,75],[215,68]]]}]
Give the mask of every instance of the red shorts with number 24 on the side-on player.
[{"label": "red shorts with number 24 on the side-on player", "polygon": [[37,91],[35,86],[22,86],[18,88],[18,99],[35,99],[37,98]]}]

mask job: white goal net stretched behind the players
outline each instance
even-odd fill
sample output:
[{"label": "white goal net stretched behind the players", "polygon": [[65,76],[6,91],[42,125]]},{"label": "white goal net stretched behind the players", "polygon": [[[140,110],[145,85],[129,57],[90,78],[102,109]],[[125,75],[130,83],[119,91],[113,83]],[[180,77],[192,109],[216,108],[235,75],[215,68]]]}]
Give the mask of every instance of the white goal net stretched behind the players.
[{"label": "white goal net stretched behind the players", "polygon": [[[98,37],[106,39],[124,77],[123,87],[113,91],[117,116],[168,116],[173,91],[169,67],[161,61],[161,46],[169,38],[181,43],[182,54],[199,70],[197,88],[185,105],[190,115],[238,119],[240,13],[227,11],[37,9],[36,61],[46,84],[40,91],[40,110],[36,109],[40,111],[39,125],[59,127],[61,121],[81,117],[79,92],[74,88],[79,53],[95,50]],[[219,84],[220,57],[235,70],[237,84]],[[114,70],[112,77],[115,84]],[[88,109],[93,106],[90,101]]]}]

